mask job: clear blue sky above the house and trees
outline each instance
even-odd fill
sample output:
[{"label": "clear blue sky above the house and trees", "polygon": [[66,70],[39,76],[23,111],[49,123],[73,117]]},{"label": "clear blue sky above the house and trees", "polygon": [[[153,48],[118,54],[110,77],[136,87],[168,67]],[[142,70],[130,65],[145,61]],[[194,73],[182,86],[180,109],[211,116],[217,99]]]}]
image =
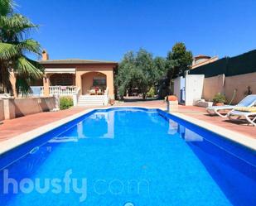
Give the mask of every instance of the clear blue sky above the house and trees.
[{"label": "clear blue sky above the house and trees", "polygon": [[32,36],[51,59],[121,60],[140,47],[166,56],[176,41],[193,55],[256,49],[255,0],[16,0],[41,25]]}]

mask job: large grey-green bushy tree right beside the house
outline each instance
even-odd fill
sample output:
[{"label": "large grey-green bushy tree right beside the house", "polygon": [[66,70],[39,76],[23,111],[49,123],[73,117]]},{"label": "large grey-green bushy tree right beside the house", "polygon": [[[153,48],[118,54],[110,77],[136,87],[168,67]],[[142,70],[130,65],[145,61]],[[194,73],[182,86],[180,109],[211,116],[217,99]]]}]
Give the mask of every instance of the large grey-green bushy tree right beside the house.
[{"label": "large grey-green bushy tree right beside the house", "polygon": [[165,60],[153,59],[147,50],[140,49],[136,54],[129,51],[123,56],[115,76],[118,94],[123,97],[128,89],[138,88],[143,98],[164,74]]}]

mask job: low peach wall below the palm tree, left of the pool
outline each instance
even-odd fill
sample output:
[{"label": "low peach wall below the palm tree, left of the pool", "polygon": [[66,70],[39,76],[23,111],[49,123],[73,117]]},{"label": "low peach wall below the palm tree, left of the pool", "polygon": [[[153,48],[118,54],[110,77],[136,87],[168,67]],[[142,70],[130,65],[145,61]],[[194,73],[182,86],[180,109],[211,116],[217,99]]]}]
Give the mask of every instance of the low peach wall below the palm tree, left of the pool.
[{"label": "low peach wall below the palm tree, left of the pool", "polygon": [[48,112],[55,108],[54,97],[4,99],[5,119]]}]

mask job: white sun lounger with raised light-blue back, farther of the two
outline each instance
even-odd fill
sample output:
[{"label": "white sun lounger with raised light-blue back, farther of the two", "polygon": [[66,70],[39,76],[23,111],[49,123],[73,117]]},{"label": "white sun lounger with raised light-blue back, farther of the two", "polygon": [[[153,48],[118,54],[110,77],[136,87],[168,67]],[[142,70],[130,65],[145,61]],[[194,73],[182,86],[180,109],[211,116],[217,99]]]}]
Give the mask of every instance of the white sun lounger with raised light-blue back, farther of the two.
[{"label": "white sun lounger with raised light-blue back, farther of the two", "polygon": [[229,110],[232,111],[234,108],[239,108],[239,107],[253,107],[256,104],[256,94],[251,94],[246,96],[245,98],[242,99],[241,102],[239,102],[236,105],[224,105],[224,106],[213,106],[206,108],[207,113],[210,114],[217,114],[220,117],[228,117],[229,113],[221,114],[220,111],[226,111]]}]

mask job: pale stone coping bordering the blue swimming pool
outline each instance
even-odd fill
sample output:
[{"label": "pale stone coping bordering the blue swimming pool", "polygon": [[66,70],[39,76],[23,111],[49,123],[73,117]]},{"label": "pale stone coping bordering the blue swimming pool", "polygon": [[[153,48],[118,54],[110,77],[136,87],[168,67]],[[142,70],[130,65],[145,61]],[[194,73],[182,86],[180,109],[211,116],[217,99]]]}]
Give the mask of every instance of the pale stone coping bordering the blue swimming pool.
[{"label": "pale stone coping bordering the blue swimming pool", "polygon": [[[35,139],[36,137],[40,137],[41,135],[45,134],[46,132],[50,132],[51,130],[55,129],[56,127],[60,127],[61,125],[70,122],[72,120],[75,120],[78,117],[81,117],[85,115],[86,113],[92,112],[94,110],[105,110],[109,108],[146,108],[146,109],[160,109],[163,112],[166,112],[163,108],[150,108],[150,107],[138,107],[138,106],[118,106],[118,107],[106,107],[106,108],[87,108],[85,111],[82,111],[80,113],[76,113],[71,115],[70,117],[65,117],[63,119],[60,119],[56,122],[51,122],[50,124],[46,124],[44,126],[38,127],[36,129],[33,129],[29,132],[22,133],[21,135],[12,137],[11,139],[8,139],[6,141],[2,141],[0,144],[0,155],[3,153],[12,150],[13,148],[17,146],[21,146],[22,144],[31,141]],[[221,137],[225,137],[231,141],[235,141],[243,146],[249,147],[250,149],[256,151],[256,140],[252,137],[247,137],[245,135],[242,135],[238,132],[233,132],[228,129],[225,129],[220,126],[216,126],[214,124],[198,120],[194,117],[189,117],[181,113],[170,113],[171,115],[175,117],[179,117],[182,120],[185,120],[187,122],[191,122],[192,124],[195,124],[198,127],[205,128],[206,130],[210,132],[214,132],[215,134],[220,135]]]}]

